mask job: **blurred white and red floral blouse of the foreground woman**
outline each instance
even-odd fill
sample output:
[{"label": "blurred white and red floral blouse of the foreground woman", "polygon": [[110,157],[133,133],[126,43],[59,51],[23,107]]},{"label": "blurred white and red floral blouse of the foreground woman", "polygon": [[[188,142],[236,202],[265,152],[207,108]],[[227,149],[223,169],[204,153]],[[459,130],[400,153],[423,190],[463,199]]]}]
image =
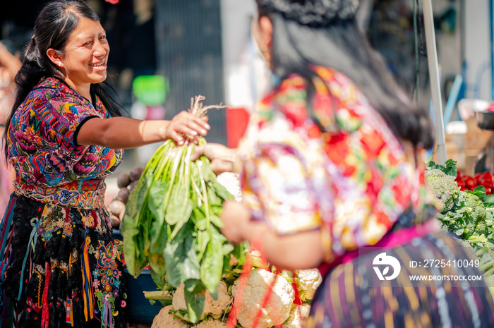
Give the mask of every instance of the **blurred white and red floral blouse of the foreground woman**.
[{"label": "blurred white and red floral blouse of the foreground woman", "polygon": [[251,116],[236,170],[253,219],[279,234],[322,229],[330,261],[374,245],[399,214],[433,198],[420,156],[400,143],[351,80],[330,68],[313,71],[322,78],[313,81],[313,109],[330,132],[309,118],[306,81],[291,75]]}]

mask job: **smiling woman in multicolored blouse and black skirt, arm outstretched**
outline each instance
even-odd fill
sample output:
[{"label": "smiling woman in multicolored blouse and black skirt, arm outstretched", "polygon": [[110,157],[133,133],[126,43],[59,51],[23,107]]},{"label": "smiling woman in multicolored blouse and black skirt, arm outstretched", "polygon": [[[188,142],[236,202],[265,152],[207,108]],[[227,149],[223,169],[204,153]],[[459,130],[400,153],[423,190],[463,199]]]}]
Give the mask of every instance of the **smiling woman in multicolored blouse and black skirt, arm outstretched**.
[{"label": "smiling woman in multicolored blouse and black skirt, arm outstretched", "polygon": [[108,54],[84,1],[50,2],[37,17],[4,133],[16,180],[0,224],[1,327],[12,315],[18,327],[125,327],[104,178],[121,163],[120,148],[181,144],[210,129],[187,112],[171,121],[121,117],[102,84]]}]

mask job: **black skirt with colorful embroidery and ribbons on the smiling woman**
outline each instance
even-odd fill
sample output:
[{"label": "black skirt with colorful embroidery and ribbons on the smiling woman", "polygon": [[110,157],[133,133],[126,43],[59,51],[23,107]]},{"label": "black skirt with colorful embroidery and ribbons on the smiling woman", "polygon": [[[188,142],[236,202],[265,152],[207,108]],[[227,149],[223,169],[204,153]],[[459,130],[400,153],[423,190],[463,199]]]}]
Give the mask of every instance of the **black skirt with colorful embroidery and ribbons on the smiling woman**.
[{"label": "black skirt with colorful embroidery and ribbons on the smiling woman", "polygon": [[[107,210],[11,195],[1,224],[1,327],[125,327]],[[13,318],[13,319],[9,319]]]}]

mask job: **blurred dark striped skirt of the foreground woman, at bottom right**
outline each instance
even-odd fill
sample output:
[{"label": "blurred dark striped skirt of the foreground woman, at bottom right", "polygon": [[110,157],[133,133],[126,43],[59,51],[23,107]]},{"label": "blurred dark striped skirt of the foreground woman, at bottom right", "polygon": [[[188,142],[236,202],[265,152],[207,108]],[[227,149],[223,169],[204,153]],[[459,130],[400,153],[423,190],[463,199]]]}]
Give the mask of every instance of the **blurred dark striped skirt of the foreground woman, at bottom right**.
[{"label": "blurred dark striped skirt of the foreground woman, at bottom right", "polygon": [[[387,250],[386,255],[400,262],[424,263],[434,258],[472,259],[468,250],[454,238],[437,233],[416,238],[411,243]],[[380,252],[380,251],[379,251]],[[380,281],[369,253],[327,274],[313,298],[306,328],[405,328],[405,327],[494,327],[493,297],[479,281]],[[402,266],[399,277],[414,274],[479,276],[475,267],[438,267],[410,270]],[[399,286],[403,284],[404,286]],[[397,286],[398,285],[398,286]]]}]

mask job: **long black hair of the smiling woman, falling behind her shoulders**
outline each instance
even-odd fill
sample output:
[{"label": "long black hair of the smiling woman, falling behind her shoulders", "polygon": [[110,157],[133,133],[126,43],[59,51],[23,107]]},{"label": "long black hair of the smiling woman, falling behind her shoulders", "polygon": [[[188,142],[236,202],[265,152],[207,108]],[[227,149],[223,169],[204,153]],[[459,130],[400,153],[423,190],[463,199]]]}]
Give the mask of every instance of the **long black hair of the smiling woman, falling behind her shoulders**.
[{"label": "long black hair of the smiling woman, falling behind her shoulders", "polygon": [[[22,104],[29,92],[42,78],[62,78],[64,74],[50,61],[47,50],[52,48],[62,53],[71,33],[75,30],[81,18],[87,18],[99,22],[100,17],[95,11],[79,0],[59,0],[53,1],[44,6],[35,21],[35,34],[25,51],[23,64],[18,71],[16,78],[16,99],[13,104],[11,114],[6,122],[4,131],[4,151],[8,156],[8,126],[11,123],[16,109]],[[112,116],[121,116],[121,107],[114,97],[109,95],[107,87],[112,87],[107,83],[92,84],[90,91],[100,97],[104,106]],[[112,90],[113,91],[113,90]]]}]

